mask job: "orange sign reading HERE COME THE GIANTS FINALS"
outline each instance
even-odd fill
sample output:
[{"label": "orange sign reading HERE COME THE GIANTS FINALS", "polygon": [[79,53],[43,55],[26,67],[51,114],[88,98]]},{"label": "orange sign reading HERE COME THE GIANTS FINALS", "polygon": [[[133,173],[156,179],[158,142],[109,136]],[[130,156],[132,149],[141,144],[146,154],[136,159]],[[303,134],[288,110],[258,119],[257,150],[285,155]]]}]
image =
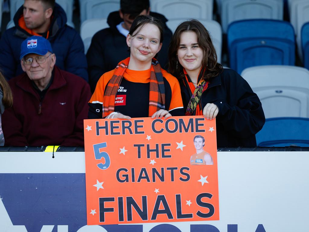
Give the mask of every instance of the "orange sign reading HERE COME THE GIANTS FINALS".
[{"label": "orange sign reading HERE COME THE GIANTS FINALS", "polygon": [[87,225],[219,220],[215,120],[84,120]]}]

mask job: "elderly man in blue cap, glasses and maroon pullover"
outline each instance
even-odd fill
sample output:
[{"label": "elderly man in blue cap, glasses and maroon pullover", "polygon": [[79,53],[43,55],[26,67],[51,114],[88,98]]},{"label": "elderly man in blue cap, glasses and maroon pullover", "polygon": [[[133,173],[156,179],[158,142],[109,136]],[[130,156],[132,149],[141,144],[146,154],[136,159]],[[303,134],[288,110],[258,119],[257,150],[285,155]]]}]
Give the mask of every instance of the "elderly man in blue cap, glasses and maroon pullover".
[{"label": "elderly man in blue cap, glasses and maroon pullover", "polygon": [[25,73],[9,81],[13,107],[2,115],[6,146],[83,146],[88,83],[60,70],[48,40],[32,36],[21,45]]}]

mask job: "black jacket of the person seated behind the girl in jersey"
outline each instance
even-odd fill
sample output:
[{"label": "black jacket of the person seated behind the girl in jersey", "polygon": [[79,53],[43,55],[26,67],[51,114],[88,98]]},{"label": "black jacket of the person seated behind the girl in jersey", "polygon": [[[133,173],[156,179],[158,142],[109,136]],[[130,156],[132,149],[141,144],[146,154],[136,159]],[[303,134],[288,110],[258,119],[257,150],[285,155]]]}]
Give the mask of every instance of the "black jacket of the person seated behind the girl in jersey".
[{"label": "black jacket of the person seated behind the girl in jersey", "polygon": [[[168,46],[172,32],[167,28],[167,19],[163,15],[154,12],[150,12],[150,15],[160,19],[165,28],[162,48],[158,53],[157,59],[161,67],[166,68],[165,66],[168,62]],[[121,60],[130,56],[126,37],[116,28],[122,21],[119,11],[110,13],[107,18],[107,23],[110,27],[98,31],[92,37],[91,45],[86,55],[91,92],[94,92],[101,75],[113,70]]]}]

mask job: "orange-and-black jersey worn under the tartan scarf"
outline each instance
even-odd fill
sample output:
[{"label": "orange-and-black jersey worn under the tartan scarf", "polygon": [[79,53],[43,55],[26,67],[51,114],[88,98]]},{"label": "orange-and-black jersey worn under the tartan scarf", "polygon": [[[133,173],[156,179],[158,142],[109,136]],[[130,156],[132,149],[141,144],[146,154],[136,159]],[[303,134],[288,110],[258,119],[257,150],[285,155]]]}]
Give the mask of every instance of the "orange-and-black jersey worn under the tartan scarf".
[{"label": "orange-and-black jersey worn under the tartan scarf", "polygon": [[[102,118],[104,90],[114,70],[104,73],[89,101],[88,118]],[[184,110],[178,80],[162,69],[165,88],[165,109],[172,116],[183,116]],[[115,112],[131,118],[148,117],[150,69],[135,71],[126,69],[115,98]]]}]

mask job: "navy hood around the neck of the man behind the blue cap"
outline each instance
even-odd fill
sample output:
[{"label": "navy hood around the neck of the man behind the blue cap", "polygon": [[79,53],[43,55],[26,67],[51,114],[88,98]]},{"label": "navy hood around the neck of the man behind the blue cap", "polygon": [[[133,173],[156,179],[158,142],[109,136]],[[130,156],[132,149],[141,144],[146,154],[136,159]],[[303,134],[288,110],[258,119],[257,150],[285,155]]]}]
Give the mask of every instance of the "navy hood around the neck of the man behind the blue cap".
[{"label": "navy hood around the neck of the man behind the blue cap", "polygon": [[[32,36],[29,32],[27,32],[25,29],[21,28],[19,26],[19,19],[23,16],[23,6],[19,7],[17,12],[14,15],[13,21],[15,24],[15,35],[22,37],[22,38],[28,38]],[[55,3],[55,7],[53,10],[53,15],[52,15],[52,21],[49,27],[49,38],[54,37],[59,29],[63,28],[66,25],[66,12],[61,8],[60,5]]]}]

